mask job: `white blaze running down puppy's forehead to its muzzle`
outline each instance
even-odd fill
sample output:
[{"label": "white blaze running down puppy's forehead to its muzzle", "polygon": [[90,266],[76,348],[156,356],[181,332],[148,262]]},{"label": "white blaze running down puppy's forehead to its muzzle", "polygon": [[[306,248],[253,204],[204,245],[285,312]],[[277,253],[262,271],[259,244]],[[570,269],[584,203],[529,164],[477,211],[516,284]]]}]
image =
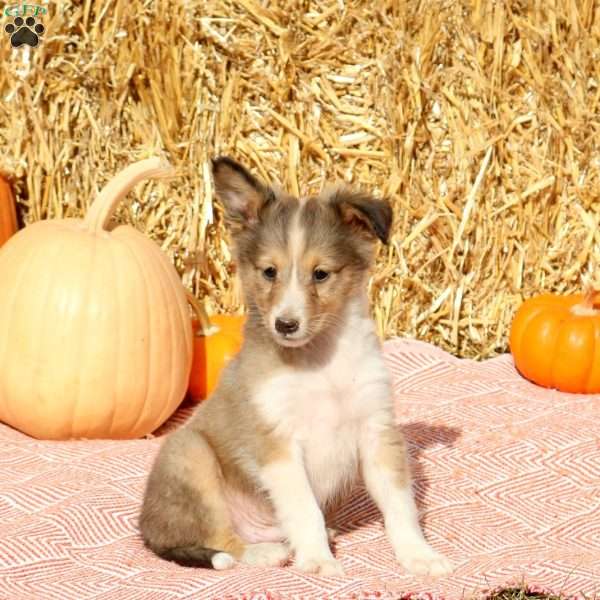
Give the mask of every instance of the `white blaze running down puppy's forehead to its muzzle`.
[{"label": "white blaze running down puppy's forehead to its muzzle", "polygon": [[275,329],[277,319],[298,321],[298,330],[286,336],[286,339],[292,342],[290,345],[293,345],[293,340],[302,340],[307,334],[306,290],[300,281],[300,264],[304,244],[304,230],[300,225],[300,211],[297,211],[289,230],[288,252],[290,266],[285,274],[286,279],[282,283],[281,299],[271,312],[271,325],[274,333],[278,336],[280,334]]}]

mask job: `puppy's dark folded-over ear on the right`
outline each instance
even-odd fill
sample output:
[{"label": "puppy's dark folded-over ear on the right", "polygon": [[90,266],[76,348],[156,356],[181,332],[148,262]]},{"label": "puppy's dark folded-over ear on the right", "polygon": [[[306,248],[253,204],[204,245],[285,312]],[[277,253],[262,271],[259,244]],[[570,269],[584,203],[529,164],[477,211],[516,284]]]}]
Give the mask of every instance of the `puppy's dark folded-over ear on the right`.
[{"label": "puppy's dark folded-over ear on the right", "polygon": [[392,207],[388,200],[342,188],[334,192],[330,201],[341,219],[357,233],[388,243],[392,227]]}]

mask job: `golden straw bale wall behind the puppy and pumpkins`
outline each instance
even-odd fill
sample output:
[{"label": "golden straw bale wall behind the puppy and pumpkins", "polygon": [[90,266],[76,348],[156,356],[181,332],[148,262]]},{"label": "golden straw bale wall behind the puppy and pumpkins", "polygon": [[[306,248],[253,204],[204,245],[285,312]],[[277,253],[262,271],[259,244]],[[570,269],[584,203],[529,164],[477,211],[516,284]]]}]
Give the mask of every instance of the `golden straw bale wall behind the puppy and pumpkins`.
[{"label": "golden straw bale wall behind the puppy and pumpkins", "polygon": [[[209,310],[242,308],[208,160],[293,193],[389,196],[379,330],[457,355],[507,348],[514,311],[600,259],[594,0],[51,3],[36,49],[0,44],[0,169],[21,218],[81,215],[118,169],[178,169],[117,215]],[[6,19],[6,17],[4,17]]]}]

